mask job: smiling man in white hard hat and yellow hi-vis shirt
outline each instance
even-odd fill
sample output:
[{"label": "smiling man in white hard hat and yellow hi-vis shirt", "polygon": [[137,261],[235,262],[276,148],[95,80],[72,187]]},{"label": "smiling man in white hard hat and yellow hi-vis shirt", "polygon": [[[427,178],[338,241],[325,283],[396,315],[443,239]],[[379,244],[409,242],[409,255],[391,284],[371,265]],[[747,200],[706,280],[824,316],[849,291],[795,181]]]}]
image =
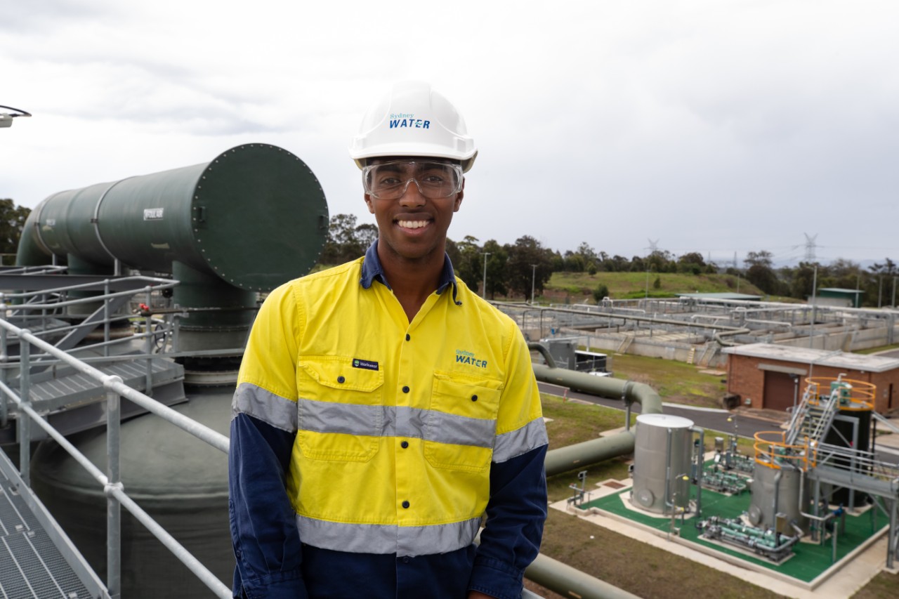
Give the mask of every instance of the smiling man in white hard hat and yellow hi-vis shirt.
[{"label": "smiling man in white hard hat and yellow hi-vis shirt", "polygon": [[231,423],[236,597],[521,596],[547,436],[521,332],[445,253],[476,153],[446,98],[396,85],[351,148],[378,240],[260,309]]}]

